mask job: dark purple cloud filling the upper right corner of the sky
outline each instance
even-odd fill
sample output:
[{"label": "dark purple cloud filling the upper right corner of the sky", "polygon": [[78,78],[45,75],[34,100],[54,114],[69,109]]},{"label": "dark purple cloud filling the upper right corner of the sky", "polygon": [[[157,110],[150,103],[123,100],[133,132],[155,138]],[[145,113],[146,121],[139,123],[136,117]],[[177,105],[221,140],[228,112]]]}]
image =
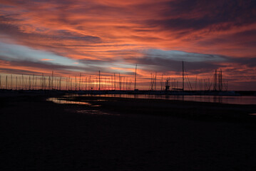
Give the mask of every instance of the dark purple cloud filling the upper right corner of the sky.
[{"label": "dark purple cloud filling the upper right corner of the sky", "polygon": [[160,13],[163,19],[150,19],[145,23],[174,31],[203,28],[220,31],[256,22],[256,1],[180,0],[170,1],[167,6]]}]

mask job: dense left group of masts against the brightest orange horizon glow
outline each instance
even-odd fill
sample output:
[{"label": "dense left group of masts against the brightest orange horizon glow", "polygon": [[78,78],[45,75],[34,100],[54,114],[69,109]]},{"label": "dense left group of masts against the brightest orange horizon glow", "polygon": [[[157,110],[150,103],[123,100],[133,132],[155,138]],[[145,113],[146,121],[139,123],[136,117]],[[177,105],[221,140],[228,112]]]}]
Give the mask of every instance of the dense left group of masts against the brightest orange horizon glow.
[{"label": "dense left group of masts against the brightest orange horizon glow", "polygon": [[99,71],[98,77],[84,77],[80,73],[75,77],[55,77],[53,72],[51,76],[44,73],[41,76],[13,76],[0,74],[0,89],[8,90],[133,90],[132,78],[126,76],[101,76]]}]

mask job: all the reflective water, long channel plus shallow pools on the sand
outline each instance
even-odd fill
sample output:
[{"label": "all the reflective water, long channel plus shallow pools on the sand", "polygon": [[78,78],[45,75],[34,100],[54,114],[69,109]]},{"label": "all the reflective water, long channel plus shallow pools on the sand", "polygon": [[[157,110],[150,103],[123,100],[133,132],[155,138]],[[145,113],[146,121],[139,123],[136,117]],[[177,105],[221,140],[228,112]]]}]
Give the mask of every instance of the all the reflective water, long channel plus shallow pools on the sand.
[{"label": "all the reflective water, long channel plus shallow pools on the sand", "polygon": [[[53,103],[59,104],[74,104],[74,105],[87,105],[88,107],[96,108],[81,108],[74,110],[75,113],[83,113],[87,115],[118,115],[112,113],[106,113],[99,109],[101,105],[93,105],[96,101],[108,101],[103,99],[80,99],[76,100],[78,96],[98,96],[98,97],[116,97],[116,98],[144,98],[144,99],[165,99],[165,100],[190,100],[199,102],[210,103],[229,103],[229,104],[242,104],[242,105],[255,105],[255,96],[214,96],[214,95],[128,95],[128,94],[108,94],[108,95],[63,95],[61,98],[48,98],[47,100]],[[113,99],[109,99],[115,101]],[[256,116],[256,113],[250,113],[252,117]]]}]

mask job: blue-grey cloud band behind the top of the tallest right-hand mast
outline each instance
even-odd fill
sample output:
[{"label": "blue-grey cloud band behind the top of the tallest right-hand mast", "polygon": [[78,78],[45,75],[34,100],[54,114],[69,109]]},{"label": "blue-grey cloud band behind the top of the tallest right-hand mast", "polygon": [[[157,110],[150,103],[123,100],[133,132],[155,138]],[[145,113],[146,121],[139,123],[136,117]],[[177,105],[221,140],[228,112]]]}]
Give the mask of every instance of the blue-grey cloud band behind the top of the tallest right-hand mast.
[{"label": "blue-grey cloud band behind the top of the tallest right-hand mast", "polygon": [[[126,58],[130,63],[138,63],[144,66],[146,70],[152,70],[166,73],[182,71],[182,61],[185,61],[185,69],[188,73],[208,73],[215,69],[226,68],[228,64],[236,66],[247,66],[248,68],[256,67],[256,58],[232,58],[230,56],[221,56],[213,54],[186,53],[181,51],[144,51],[142,58]],[[237,69],[237,68],[235,68]],[[232,73],[234,73],[232,68]],[[227,70],[228,71],[228,70]],[[248,73],[245,71],[245,73]],[[231,72],[231,71],[230,71]],[[240,71],[237,71],[238,73]]]}]

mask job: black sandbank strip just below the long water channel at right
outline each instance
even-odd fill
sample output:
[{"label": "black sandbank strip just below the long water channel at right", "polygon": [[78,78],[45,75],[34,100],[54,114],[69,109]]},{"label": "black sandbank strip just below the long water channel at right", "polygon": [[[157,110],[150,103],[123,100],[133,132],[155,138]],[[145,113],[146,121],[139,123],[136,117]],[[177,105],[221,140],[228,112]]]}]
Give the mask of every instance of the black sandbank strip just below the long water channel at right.
[{"label": "black sandbank strip just below the long water channel at right", "polygon": [[137,115],[165,115],[203,120],[249,121],[254,122],[256,105],[235,105],[186,100],[119,98],[101,96],[65,95],[56,99],[91,103],[94,109],[110,113]]}]

